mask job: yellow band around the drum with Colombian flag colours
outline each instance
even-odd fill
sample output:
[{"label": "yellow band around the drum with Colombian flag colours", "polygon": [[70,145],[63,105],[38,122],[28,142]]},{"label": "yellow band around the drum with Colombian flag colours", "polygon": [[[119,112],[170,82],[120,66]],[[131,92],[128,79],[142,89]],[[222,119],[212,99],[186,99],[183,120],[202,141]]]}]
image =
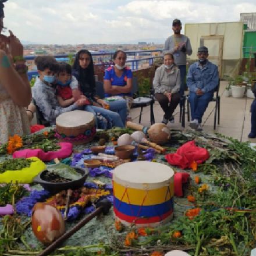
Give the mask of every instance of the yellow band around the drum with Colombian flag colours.
[{"label": "yellow band around the drum with Colombian flag colours", "polygon": [[127,190],[126,190],[125,187],[113,181],[114,196],[122,202],[126,202],[127,204],[130,203],[134,205],[162,204],[163,202],[170,200],[170,195],[172,197],[174,195],[174,184],[170,183],[169,188],[170,188],[170,192],[168,191],[168,187],[161,187],[160,189],[147,190],[147,186],[145,186],[145,190],[132,189],[130,187],[127,187]]}]

